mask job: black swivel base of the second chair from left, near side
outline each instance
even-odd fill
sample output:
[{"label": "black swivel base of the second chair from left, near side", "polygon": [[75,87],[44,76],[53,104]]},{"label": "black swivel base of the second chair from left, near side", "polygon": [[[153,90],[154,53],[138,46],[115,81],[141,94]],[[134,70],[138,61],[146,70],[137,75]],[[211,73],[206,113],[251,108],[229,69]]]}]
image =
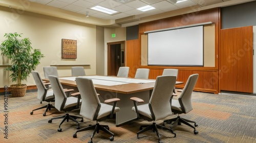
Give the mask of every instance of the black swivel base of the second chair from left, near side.
[{"label": "black swivel base of the second chair from left, near side", "polygon": [[59,117],[54,117],[54,118],[51,118],[48,123],[52,123],[52,120],[55,120],[55,119],[58,119],[58,118],[63,118],[63,120],[61,121],[61,123],[59,124],[59,128],[58,128],[58,131],[61,132],[61,128],[60,128],[60,125],[65,122],[67,120],[67,122],[69,122],[69,120],[72,120],[74,122],[76,122],[78,125],[76,127],[76,129],[80,129],[80,124],[78,123],[78,121],[76,121],[77,118],[81,118],[81,122],[83,122],[83,117],[80,117],[80,116],[74,116],[74,115],[69,115],[68,113],[66,115],[62,115],[62,116],[59,116]]}]

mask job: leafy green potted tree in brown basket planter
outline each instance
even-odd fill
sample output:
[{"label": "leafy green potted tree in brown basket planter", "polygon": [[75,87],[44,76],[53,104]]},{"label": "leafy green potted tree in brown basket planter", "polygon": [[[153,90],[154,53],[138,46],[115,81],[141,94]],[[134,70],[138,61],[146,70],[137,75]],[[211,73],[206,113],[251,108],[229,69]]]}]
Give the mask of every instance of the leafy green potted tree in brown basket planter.
[{"label": "leafy green potted tree in brown basket planter", "polygon": [[33,50],[29,38],[19,39],[22,34],[6,33],[4,37],[6,40],[0,45],[1,55],[11,61],[11,65],[5,70],[12,72],[10,78],[12,82],[16,82],[10,86],[12,97],[23,97],[26,94],[27,85],[22,84],[22,81],[27,80],[44,55],[38,49]]}]

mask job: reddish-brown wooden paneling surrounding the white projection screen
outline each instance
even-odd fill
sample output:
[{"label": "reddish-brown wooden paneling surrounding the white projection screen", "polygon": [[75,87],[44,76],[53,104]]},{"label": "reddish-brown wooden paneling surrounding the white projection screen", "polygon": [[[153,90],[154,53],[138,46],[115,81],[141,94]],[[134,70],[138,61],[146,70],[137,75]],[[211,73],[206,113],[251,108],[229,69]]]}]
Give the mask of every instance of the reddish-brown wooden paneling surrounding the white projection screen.
[{"label": "reddish-brown wooden paneling surrounding the white projection screen", "polygon": [[[179,27],[185,25],[192,25],[195,23],[209,22],[215,23],[216,32],[216,57],[219,54],[219,30],[220,30],[220,8],[204,10],[199,12],[193,12],[189,14],[169,17],[165,19],[145,22],[139,24],[139,35],[143,34],[145,31]],[[199,74],[199,79],[195,90],[204,92],[219,92],[219,82],[218,82],[218,71],[219,64],[218,58],[215,61],[215,67],[185,67],[185,66],[145,66],[141,65],[140,57],[140,36],[138,40],[126,41],[126,66],[130,67],[129,77],[134,77],[137,68],[150,68],[150,79],[156,79],[157,76],[162,75],[164,68],[176,68],[179,69],[178,81],[187,81],[187,78],[191,74]],[[178,60],[178,59],[177,59]],[[216,81],[217,80],[217,81]],[[183,88],[185,85],[177,85],[177,87]]]}]

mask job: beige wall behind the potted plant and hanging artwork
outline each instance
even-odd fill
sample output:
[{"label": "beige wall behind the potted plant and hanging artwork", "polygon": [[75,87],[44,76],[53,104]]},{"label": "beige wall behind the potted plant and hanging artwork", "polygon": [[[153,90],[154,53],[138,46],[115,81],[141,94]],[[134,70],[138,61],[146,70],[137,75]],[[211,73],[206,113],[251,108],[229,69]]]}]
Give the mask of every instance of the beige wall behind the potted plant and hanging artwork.
[{"label": "beige wall behind the potted plant and hanging artwork", "polygon": [[[5,33],[24,33],[30,38],[32,47],[40,49],[45,58],[41,59],[37,71],[44,78],[43,66],[51,64],[90,64],[84,66],[87,75],[96,74],[96,26],[86,23],[0,7],[0,41]],[[61,59],[61,39],[77,40],[77,59]],[[1,56],[0,65],[5,64]],[[57,67],[59,76],[71,76],[71,67]],[[12,84],[9,73],[0,67],[0,87]],[[27,85],[35,85],[32,75]]]}]

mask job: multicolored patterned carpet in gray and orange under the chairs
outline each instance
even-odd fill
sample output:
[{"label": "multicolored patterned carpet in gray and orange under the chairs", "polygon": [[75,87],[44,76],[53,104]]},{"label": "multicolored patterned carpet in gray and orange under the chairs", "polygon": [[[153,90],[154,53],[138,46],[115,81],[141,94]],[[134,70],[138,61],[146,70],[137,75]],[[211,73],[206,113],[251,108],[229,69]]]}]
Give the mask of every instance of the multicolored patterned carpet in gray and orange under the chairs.
[{"label": "multicolored patterned carpet in gray and orange under the chairs", "polygon": [[[47,104],[40,104],[36,97],[37,92],[28,92],[25,97],[20,98],[9,96],[8,101],[4,100],[4,96],[0,96],[0,142],[88,142],[90,140],[92,130],[79,132],[77,138],[73,138],[76,123],[72,121],[61,125],[62,132],[57,131],[61,120],[53,120],[49,124],[48,120],[51,117],[63,115],[56,109],[48,111],[47,116],[42,116],[44,109],[34,111],[34,114],[30,115],[32,109]],[[5,104],[8,106],[6,106],[7,110],[4,110]],[[256,97],[193,92],[193,108],[194,110],[182,114],[181,117],[196,121],[199,125],[197,127],[199,134],[195,135],[192,128],[182,124],[175,128],[176,137],[168,131],[159,130],[163,142],[256,142]],[[79,110],[70,114],[79,114]],[[166,119],[173,117],[176,115],[173,114]],[[157,123],[162,124],[162,121]],[[84,119],[80,128],[90,124],[94,125],[95,122]],[[100,124],[110,126],[110,131],[115,134],[112,142],[158,142],[158,137],[153,131],[142,133],[139,135],[140,138],[137,138],[136,132],[139,131],[139,126],[151,124],[142,119],[119,127],[115,126],[113,119]],[[6,135],[8,139],[4,138]],[[93,142],[111,142],[109,137],[110,135],[100,131],[99,134],[95,134]]]}]

